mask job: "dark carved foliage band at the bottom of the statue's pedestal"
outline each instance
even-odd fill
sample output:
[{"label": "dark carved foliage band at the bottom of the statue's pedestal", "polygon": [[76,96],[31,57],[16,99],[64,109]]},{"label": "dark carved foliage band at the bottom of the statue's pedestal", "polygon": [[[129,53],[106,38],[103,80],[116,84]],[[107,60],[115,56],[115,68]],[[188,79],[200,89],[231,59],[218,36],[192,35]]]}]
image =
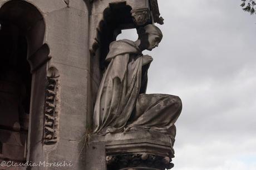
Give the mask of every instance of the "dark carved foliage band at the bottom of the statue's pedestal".
[{"label": "dark carved foliage band at the bottom of the statue's pedestal", "polygon": [[171,158],[156,154],[120,154],[106,156],[107,168],[111,170],[118,169],[155,169],[165,170],[174,167]]}]

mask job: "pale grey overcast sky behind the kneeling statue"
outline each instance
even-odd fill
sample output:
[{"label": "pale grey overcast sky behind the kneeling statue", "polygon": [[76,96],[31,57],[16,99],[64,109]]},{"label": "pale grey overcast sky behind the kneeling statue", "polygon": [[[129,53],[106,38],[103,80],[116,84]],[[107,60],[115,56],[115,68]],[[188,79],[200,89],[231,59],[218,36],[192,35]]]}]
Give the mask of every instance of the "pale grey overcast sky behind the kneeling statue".
[{"label": "pale grey overcast sky behind the kneeling statue", "polygon": [[[256,169],[256,15],[240,0],[158,0],[147,93],[180,96],[174,170]],[[120,38],[136,39],[126,31]]]}]

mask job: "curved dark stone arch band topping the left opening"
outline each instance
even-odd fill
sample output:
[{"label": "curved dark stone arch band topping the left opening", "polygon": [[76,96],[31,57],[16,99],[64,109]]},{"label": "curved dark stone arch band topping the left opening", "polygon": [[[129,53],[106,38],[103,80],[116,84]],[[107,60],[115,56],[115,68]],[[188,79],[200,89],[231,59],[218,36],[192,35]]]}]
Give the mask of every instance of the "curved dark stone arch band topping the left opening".
[{"label": "curved dark stone arch band topping the left opening", "polygon": [[[26,1],[8,1],[0,9],[0,22],[12,23],[19,33],[27,39],[27,60],[31,71],[50,59],[50,49],[43,44],[45,39],[45,20],[38,9]],[[4,28],[4,24],[2,24]]]}]

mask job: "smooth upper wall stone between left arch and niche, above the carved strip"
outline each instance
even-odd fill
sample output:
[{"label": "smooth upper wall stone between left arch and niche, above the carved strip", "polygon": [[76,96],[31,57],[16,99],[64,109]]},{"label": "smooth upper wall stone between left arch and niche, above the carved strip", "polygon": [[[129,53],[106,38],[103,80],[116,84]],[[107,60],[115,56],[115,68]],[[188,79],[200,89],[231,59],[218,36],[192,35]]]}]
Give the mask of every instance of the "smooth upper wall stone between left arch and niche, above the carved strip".
[{"label": "smooth upper wall stone between left arch and niche, above the carved strip", "polygon": [[65,8],[47,14],[45,20],[46,43],[53,61],[88,69],[88,14]]}]

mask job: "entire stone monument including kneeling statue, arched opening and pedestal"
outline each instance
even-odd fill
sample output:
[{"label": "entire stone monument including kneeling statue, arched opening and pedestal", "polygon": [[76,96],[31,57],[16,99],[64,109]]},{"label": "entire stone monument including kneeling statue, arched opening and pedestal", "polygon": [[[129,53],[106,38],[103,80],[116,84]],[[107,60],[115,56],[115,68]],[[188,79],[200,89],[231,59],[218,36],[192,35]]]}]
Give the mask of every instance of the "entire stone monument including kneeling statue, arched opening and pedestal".
[{"label": "entire stone monument including kneeling statue, arched opening and pedestal", "polygon": [[163,20],[157,0],[0,0],[0,162],[41,163],[0,169],[172,168],[181,100],[146,94],[142,54]]}]

